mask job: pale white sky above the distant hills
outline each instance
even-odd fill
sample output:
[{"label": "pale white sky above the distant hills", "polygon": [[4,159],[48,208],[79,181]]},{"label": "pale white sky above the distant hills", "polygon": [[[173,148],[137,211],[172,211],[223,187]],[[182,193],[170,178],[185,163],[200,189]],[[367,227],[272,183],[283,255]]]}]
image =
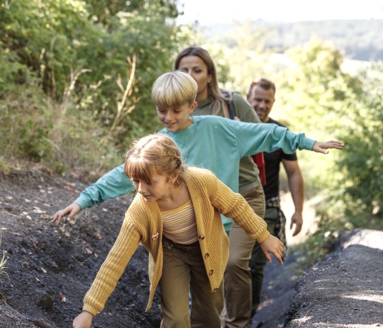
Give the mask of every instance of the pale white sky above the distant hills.
[{"label": "pale white sky above the distant hills", "polygon": [[184,4],[180,24],[233,21],[321,21],[383,19],[383,0],[179,0]]}]

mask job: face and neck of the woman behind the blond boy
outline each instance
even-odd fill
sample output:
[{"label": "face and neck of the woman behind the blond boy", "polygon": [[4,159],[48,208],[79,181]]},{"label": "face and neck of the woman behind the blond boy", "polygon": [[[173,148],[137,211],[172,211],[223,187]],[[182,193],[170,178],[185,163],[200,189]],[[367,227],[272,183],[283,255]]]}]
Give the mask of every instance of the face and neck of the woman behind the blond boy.
[{"label": "face and neck of the woman behind the blond boy", "polygon": [[191,75],[196,80],[198,99],[207,99],[209,97],[208,85],[213,77],[207,71],[207,65],[201,58],[196,55],[186,55],[180,60],[178,69]]}]

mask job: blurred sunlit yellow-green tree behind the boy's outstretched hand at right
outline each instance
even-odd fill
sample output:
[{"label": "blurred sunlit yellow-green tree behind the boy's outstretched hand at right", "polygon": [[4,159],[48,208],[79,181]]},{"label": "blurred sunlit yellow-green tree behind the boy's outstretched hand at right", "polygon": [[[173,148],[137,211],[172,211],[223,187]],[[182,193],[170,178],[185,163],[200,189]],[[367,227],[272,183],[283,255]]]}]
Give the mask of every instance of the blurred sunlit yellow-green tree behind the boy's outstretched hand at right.
[{"label": "blurred sunlit yellow-green tree behind the boy's outstretched hand at right", "polygon": [[[276,105],[272,117],[292,131],[304,131],[315,140],[341,140],[341,112],[361,94],[356,77],[343,73],[343,57],[332,43],[313,38],[304,47],[287,51],[288,69],[276,79]],[[332,184],[329,173],[336,170],[339,151],[328,155],[298,153],[308,196]],[[311,189],[311,190],[310,190]]]}]

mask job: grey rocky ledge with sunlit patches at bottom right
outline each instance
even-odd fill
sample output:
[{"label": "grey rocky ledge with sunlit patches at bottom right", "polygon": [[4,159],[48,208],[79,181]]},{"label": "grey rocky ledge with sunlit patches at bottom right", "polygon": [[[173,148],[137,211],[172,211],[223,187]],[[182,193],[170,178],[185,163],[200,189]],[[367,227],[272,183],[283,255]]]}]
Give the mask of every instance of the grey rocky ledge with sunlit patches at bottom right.
[{"label": "grey rocky ledge with sunlit patches at bottom right", "polygon": [[383,231],[343,234],[336,251],[300,277],[285,327],[383,327]]}]

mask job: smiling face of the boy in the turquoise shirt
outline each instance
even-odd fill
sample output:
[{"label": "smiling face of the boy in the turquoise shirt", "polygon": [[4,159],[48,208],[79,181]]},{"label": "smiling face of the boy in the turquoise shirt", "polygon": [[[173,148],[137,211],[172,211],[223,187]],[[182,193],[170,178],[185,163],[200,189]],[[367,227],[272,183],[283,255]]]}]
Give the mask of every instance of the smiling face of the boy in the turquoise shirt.
[{"label": "smiling face of the boy in the turquoise shirt", "polygon": [[192,124],[190,114],[196,108],[196,101],[189,105],[185,103],[179,108],[157,108],[157,116],[159,121],[165,125],[166,129],[170,132],[181,131]]}]

